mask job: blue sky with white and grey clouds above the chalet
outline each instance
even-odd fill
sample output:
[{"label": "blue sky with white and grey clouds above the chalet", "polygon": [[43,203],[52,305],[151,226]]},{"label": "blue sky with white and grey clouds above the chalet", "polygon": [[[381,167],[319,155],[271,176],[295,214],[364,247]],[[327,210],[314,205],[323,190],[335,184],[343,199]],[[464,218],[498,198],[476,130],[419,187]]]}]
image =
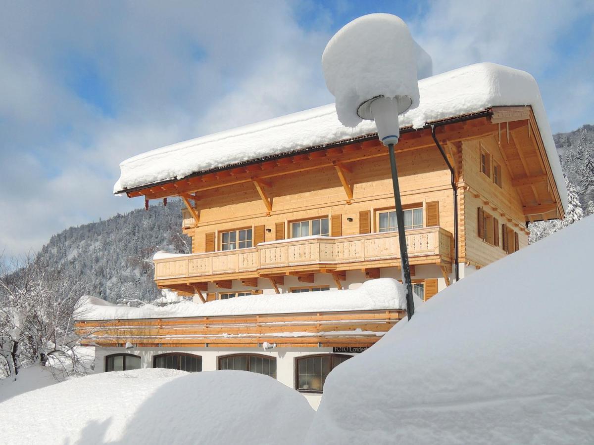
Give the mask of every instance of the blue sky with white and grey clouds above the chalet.
[{"label": "blue sky with white and grey clouds above the chalet", "polygon": [[0,252],[143,205],[112,196],[124,158],[330,103],[320,57],[391,12],[435,74],[529,71],[553,131],[594,123],[594,2],[9,2],[0,16]]}]

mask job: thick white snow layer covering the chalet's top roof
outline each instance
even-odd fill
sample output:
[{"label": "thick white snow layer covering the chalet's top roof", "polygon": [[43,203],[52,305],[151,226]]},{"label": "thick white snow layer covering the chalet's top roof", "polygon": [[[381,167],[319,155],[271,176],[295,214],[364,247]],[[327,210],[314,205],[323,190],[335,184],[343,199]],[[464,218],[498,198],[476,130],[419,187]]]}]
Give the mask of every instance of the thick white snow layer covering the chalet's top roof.
[{"label": "thick white snow layer covering the chalet's top roof", "polygon": [[[401,128],[422,128],[428,122],[481,112],[494,106],[532,106],[563,208],[567,208],[567,191],[557,149],[538,84],[530,74],[495,63],[476,63],[419,80],[419,93],[419,106],[401,117]],[[134,187],[181,179],[192,173],[348,141],[375,132],[375,123],[369,120],[354,128],[343,126],[334,104],[328,104],[131,157],[120,164],[121,176],[113,192],[121,193]]]}]

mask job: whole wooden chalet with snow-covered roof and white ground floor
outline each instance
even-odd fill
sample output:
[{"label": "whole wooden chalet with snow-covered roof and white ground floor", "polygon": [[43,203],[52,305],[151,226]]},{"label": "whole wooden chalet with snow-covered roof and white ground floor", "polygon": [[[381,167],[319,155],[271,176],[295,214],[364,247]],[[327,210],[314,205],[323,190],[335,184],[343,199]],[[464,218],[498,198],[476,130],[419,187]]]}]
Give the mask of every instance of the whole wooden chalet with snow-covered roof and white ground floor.
[{"label": "whole wooden chalet with snow-covered roof and white ground floor", "polygon": [[[567,198],[532,77],[479,64],[419,88],[421,106],[401,123],[396,158],[414,290],[428,300],[456,274],[525,247],[527,222],[563,218]],[[295,310],[304,293],[324,301],[324,291],[400,279],[390,163],[373,123],[342,128],[330,105],[154,150],[121,169],[116,193],[147,205],[179,197],[186,206],[180,224],[192,253],[157,254],[157,286],[230,313],[80,320],[98,347],[97,371],[257,371],[317,406],[331,368],[405,315],[405,307],[369,309],[366,301]],[[249,313],[229,303],[277,294],[292,294],[279,298],[297,306]]]}]

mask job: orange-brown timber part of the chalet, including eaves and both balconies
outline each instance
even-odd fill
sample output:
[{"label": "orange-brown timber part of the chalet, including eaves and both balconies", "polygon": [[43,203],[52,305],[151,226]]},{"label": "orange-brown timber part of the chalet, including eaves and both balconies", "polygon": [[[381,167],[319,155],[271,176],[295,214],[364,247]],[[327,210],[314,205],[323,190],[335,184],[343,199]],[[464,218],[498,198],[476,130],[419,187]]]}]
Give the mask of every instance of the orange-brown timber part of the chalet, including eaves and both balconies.
[{"label": "orange-brown timber part of the chalet, including eaves and both balconies", "polygon": [[[456,235],[458,264],[476,270],[526,246],[528,221],[564,216],[531,107],[493,107],[432,125],[403,129],[396,146],[401,198],[413,218],[406,230],[413,282],[423,285],[425,299],[454,279]],[[434,136],[453,166],[457,209],[452,173]],[[397,233],[381,226],[394,198],[388,153],[376,135],[127,194],[184,200],[181,223],[192,253],[156,259],[155,280],[160,288],[198,295],[203,302],[225,292],[280,293],[301,283],[319,288],[323,280],[342,289],[349,282],[400,275]],[[315,224],[321,236],[295,233],[305,227],[311,234]],[[83,334],[96,329],[90,338],[105,347],[130,341],[138,347],[255,348],[266,341],[309,348],[371,345],[402,315],[394,309],[109,320],[77,322],[77,328]],[[355,335],[355,329],[368,334]]]}]

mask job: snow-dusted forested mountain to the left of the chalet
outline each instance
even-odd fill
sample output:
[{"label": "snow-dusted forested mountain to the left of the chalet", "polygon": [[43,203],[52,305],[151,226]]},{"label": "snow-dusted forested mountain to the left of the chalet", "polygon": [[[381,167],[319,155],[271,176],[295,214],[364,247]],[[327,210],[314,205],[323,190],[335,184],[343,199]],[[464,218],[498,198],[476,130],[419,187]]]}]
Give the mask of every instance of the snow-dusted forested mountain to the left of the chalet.
[{"label": "snow-dusted forested mountain to the left of the chalet", "polygon": [[153,281],[151,258],[158,250],[188,253],[189,237],[181,233],[182,202],[137,209],[105,221],[70,227],[52,236],[39,255],[62,269],[81,294],[108,301],[154,300],[160,296]]}]

